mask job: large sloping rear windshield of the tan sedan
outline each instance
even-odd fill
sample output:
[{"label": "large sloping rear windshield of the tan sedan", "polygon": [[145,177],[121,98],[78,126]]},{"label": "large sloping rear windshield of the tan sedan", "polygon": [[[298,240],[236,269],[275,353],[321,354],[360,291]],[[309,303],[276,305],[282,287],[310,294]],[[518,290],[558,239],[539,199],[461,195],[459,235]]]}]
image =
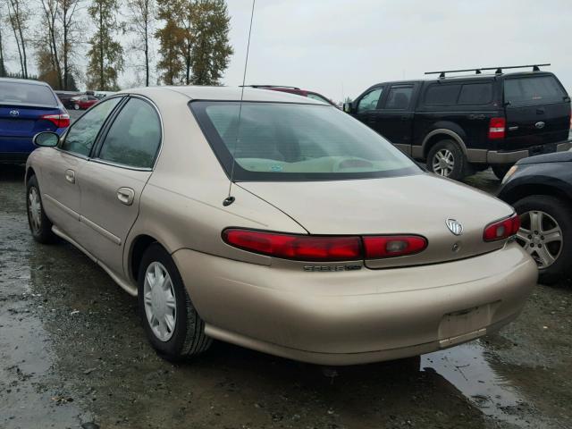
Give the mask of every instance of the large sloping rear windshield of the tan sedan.
[{"label": "large sloping rear windshield of the tan sedan", "polygon": [[[393,177],[421,172],[361,122],[327,105],[190,104],[227,174],[238,181]],[[239,125],[240,113],[240,125]]]}]

